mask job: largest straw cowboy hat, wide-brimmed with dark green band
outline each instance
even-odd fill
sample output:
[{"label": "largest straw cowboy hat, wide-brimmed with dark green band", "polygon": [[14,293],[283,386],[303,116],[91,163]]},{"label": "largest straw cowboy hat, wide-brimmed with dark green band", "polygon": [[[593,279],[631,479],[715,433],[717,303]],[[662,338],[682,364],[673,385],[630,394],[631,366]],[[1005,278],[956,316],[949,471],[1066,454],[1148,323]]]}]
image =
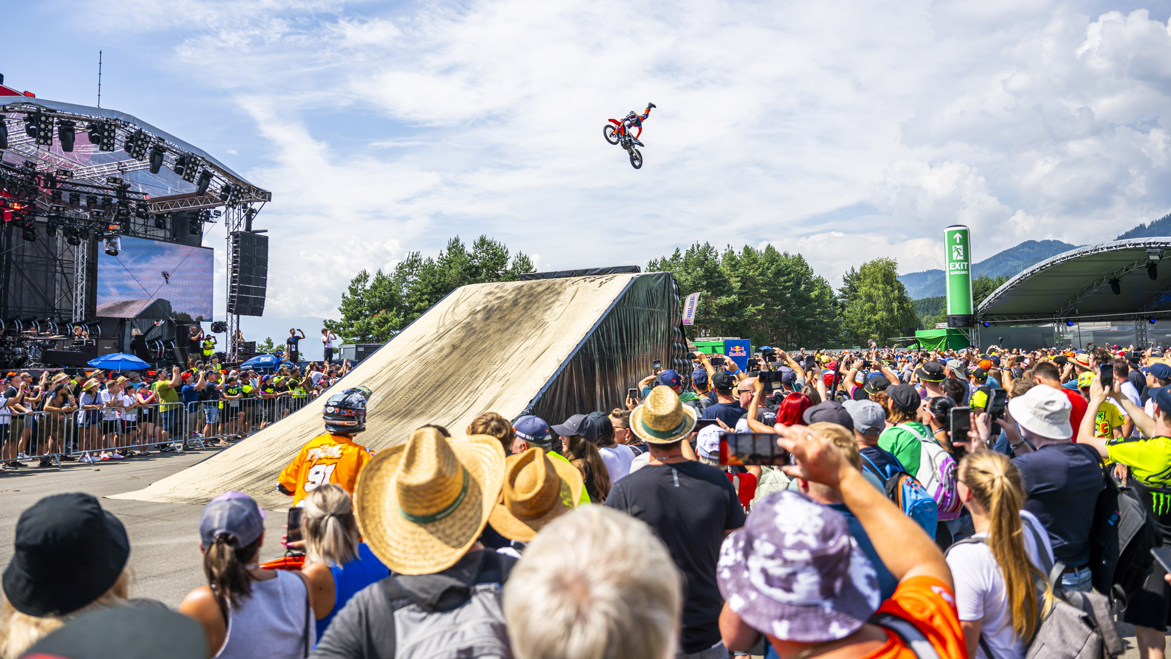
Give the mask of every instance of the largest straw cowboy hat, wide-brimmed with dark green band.
[{"label": "largest straw cowboy hat, wide-brimmed with dark green band", "polygon": [[504,466],[505,451],[494,437],[412,432],[358,474],[354,508],[363,540],[400,575],[454,565],[484,531],[500,497]]}]

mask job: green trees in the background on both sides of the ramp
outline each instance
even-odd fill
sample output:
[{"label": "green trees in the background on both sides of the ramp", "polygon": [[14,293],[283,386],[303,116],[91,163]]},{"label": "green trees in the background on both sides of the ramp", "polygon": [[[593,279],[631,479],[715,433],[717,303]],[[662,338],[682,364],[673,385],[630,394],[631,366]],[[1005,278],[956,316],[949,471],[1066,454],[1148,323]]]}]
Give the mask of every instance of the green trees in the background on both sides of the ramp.
[{"label": "green trees in the background on both sides of the ramp", "polygon": [[[344,343],[384,343],[460,286],[515,281],[533,269],[527,255],[512,254],[498,240],[481,235],[468,247],[456,236],[434,258],[412,252],[390,272],[359,272],[342,294],[341,318],[324,327]],[[680,303],[700,293],[696,323],[685,328],[691,339],[734,336],[753,345],[837,348],[882,344],[946,321],[941,298],[912,301],[898,281],[898,262],[888,258],[850,268],[837,290],[804,256],[772,245],[720,250],[696,242],[651,259],[645,272],[674,275]],[[1004,277],[974,280],[977,303],[1000,283]]]}]

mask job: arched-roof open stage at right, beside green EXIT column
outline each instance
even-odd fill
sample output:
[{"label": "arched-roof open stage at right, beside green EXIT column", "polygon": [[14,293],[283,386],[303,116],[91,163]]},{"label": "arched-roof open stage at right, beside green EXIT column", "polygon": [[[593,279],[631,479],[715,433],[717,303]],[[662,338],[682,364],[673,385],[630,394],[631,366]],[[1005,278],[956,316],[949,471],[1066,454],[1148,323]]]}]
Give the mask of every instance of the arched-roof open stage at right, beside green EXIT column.
[{"label": "arched-roof open stage at right, beside green EXIT column", "polygon": [[1041,261],[977,310],[982,345],[1171,344],[1171,236],[1114,240]]}]

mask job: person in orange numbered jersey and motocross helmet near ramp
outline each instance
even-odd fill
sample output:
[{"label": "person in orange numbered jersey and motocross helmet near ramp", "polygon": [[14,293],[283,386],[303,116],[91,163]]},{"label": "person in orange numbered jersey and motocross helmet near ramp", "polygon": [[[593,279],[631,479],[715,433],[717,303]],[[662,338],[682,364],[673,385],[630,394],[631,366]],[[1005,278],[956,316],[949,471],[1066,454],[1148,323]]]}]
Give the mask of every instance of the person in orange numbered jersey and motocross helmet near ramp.
[{"label": "person in orange numbered jersey and motocross helmet near ramp", "polygon": [[334,483],[354,493],[358,473],[374,457],[354,435],[365,430],[370,390],[347,389],[326,401],[326,434],[310,439],[278,479],[276,489],[293,497],[293,507],[314,489]]}]

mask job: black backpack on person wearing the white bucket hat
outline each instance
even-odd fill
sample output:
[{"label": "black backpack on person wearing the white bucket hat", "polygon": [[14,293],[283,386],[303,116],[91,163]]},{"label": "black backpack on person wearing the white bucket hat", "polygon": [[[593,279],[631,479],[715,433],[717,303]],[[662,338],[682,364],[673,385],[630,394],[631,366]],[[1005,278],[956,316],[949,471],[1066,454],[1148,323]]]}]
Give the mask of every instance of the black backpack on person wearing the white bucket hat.
[{"label": "black backpack on person wearing the white bucket hat", "polygon": [[1155,561],[1151,548],[1162,544],[1155,519],[1135,488],[1118,486],[1102,466],[1102,492],[1090,527],[1089,568],[1094,588],[1110,598],[1116,611],[1127,607],[1128,593],[1142,588]]}]

